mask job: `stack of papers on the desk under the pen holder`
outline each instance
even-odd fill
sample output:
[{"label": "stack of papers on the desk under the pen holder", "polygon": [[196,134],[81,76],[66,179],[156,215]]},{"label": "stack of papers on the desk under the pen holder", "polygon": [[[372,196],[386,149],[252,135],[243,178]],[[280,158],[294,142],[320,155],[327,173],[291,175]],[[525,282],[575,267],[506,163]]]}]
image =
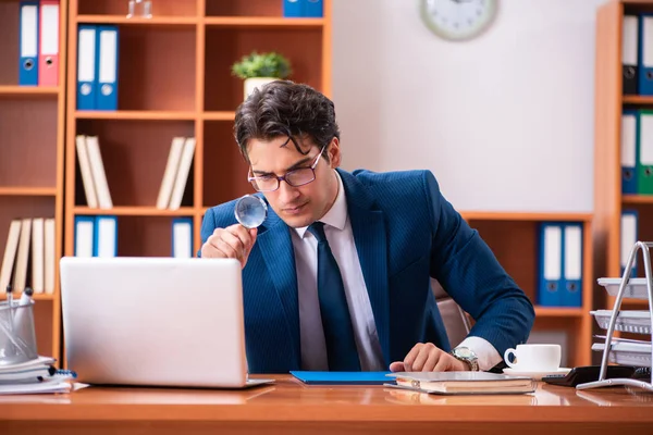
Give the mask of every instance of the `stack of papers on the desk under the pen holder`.
[{"label": "stack of papers on the desk under the pen holder", "polygon": [[19,364],[0,365],[0,395],[70,393],[73,372],[52,366],[54,359],[38,357]]}]

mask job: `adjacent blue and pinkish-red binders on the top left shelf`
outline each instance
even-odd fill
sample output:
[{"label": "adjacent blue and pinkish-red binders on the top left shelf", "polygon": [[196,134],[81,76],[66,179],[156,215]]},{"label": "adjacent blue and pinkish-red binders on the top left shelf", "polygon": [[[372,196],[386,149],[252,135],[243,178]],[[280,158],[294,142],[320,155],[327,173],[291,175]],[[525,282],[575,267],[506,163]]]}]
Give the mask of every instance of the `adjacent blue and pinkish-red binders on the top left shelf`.
[{"label": "adjacent blue and pinkish-red binders on the top left shelf", "polygon": [[20,4],[19,85],[59,85],[59,0]]}]

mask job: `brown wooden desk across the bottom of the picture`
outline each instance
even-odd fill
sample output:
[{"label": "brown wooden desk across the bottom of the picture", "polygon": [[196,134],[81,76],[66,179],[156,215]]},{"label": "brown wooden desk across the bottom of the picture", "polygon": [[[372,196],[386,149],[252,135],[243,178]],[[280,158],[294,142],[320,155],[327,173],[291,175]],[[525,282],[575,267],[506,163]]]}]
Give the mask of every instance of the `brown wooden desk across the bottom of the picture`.
[{"label": "brown wooden desk across the bottom of the picture", "polygon": [[540,384],[533,395],[443,397],[383,386],[305,386],[289,376],[275,378],[273,386],[242,391],[89,387],[60,396],[0,396],[0,434],[653,431],[653,394],[624,387],[577,391]]}]

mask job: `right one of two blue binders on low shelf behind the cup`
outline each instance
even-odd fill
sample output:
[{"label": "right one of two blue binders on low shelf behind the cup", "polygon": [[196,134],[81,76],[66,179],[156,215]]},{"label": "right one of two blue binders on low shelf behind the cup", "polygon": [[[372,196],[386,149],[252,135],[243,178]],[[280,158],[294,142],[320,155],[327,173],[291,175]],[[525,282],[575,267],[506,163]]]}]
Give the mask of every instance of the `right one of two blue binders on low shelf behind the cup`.
[{"label": "right one of two blue binders on low shelf behind the cup", "polygon": [[582,224],[567,223],[563,232],[563,289],[560,306],[582,306]]}]

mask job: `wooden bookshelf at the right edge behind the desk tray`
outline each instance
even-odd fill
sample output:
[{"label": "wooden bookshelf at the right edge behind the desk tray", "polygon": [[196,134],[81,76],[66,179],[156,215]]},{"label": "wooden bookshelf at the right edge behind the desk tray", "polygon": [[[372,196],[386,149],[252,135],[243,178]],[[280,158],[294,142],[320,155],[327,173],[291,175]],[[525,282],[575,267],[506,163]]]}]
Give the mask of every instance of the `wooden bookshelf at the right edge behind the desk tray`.
[{"label": "wooden bookshelf at the right edge behind the desk tray", "polygon": [[[594,162],[594,228],[595,266],[599,276],[620,277],[621,211],[637,210],[638,239],[653,240],[653,196],[621,192],[621,113],[628,109],[652,109],[653,97],[623,92],[621,50],[623,22],[626,14],[653,13],[653,1],[612,0],[596,13],[595,58],[595,162]],[[631,246],[628,247],[630,251]],[[638,276],[644,276],[638,257]],[[597,290],[601,308],[611,309],[615,298]],[[645,310],[648,301],[625,298],[623,309]],[[617,333],[617,335],[628,335]],[[641,337],[640,337],[641,338]]]}]

